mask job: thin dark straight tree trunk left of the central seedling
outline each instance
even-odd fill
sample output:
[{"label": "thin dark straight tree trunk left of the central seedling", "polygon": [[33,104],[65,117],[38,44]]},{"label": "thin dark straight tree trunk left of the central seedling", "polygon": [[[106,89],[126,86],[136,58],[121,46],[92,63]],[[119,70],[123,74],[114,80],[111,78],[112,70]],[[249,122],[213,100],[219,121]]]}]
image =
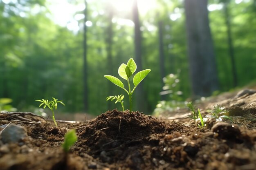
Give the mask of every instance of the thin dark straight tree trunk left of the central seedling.
[{"label": "thin dark straight tree trunk left of the central seedling", "polygon": [[83,99],[84,99],[84,109],[86,112],[89,110],[88,102],[88,68],[87,68],[87,15],[88,15],[88,4],[85,0],[85,10],[84,10],[84,23],[83,23]]}]

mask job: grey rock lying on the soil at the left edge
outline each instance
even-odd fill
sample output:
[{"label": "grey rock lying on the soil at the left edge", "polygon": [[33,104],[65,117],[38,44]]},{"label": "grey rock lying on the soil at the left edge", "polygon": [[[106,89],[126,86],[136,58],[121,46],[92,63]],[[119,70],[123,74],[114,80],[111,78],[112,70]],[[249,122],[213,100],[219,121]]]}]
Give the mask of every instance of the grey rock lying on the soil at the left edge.
[{"label": "grey rock lying on the soil at the left edge", "polygon": [[2,137],[2,142],[4,144],[16,143],[27,137],[27,130],[22,126],[9,124],[2,130],[0,136]]}]

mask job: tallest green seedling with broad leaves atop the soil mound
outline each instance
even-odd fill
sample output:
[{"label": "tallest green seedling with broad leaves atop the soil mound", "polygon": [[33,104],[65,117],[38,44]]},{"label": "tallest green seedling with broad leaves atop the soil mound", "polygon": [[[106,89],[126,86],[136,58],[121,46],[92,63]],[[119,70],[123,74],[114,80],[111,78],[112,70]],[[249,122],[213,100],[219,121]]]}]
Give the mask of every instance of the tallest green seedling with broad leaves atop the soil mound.
[{"label": "tallest green seedling with broad leaves atop the soil mound", "polygon": [[137,69],[137,65],[132,58],[130,58],[130,60],[127,62],[127,64],[123,63],[118,68],[118,74],[120,75],[120,77],[127,80],[127,82],[128,82],[128,90],[126,90],[124,88],[124,84],[117,77],[114,77],[112,75],[104,75],[104,77],[106,77],[110,82],[114,83],[115,85],[119,86],[120,88],[124,89],[124,91],[126,91],[126,93],[129,96],[130,113],[132,113],[132,93],[134,93],[135,88],[146,77],[146,75],[148,75],[148,73],[151,71],[150,69],[146,69],[143,71],[139,71],[137,74],[135,74],[135,76],[133,77],[134,88],[131,91],[130,77],[136,71],[136,69]]}]

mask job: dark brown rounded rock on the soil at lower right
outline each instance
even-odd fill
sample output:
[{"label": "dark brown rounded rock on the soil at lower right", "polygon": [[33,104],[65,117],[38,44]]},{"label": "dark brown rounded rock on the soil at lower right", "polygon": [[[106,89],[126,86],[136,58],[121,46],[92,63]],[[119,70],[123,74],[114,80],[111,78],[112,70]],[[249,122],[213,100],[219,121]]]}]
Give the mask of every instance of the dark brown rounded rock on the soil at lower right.
[{"label": "dark brown rounded rock on the soil at lower right", "polygon": [[242,143],[242,135],[237,125],[232,125],[226,122],[219,122],[211,128],[212,132],[218,133],[220,139],[226,139]]}]

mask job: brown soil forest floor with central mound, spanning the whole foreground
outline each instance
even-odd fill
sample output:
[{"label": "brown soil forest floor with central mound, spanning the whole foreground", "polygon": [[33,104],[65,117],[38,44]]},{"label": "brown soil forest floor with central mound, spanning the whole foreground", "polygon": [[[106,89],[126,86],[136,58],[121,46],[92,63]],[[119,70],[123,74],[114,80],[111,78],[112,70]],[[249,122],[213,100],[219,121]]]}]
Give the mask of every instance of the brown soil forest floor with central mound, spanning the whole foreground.
[{"label": "brown soil forest floor with central mound, spanning the whole foreground", "polygon": [[[2,112],[0,170],[256,170],[256,91],[223,93],[196,107],[205,116],[217,104],[233,122],[209,119],[205,129],[188,118],[188,109],[159,118],[112,110],[58,127],[30,113]],[[22,140],[5,141],[9,123],[25,128]],[[65,154],[69,129],[78,141]]]}]

